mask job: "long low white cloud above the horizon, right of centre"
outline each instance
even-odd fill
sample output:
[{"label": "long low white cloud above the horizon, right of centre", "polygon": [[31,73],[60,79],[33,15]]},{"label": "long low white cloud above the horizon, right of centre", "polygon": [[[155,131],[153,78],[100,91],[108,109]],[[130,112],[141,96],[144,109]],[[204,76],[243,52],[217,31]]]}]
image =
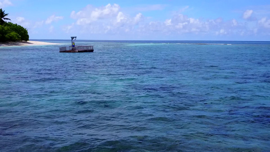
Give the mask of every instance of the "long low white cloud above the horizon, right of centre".
[{"label": "long low white cloud above the horizon, right of centre", "polygon": [[[264,23],[262,21],[261,23]],[[236,19],[224,21],[222,18],[205,20],[191,18],[184,14],[175,14],[164,22],[149,22],[140,26],[139,31],[146,33],[160,33],[165,35],[200,34],[200,35],[243,35],[257,32],[255,29],[248,29],[245,23]]]}]

